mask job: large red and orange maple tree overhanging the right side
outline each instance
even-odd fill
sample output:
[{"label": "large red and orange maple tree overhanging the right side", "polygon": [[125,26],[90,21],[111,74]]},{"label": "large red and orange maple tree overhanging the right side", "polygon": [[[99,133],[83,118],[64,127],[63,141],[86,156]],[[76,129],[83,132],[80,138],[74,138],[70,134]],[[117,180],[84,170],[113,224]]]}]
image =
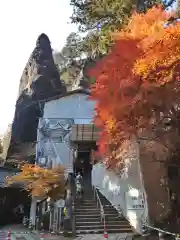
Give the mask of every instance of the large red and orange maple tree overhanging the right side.
[{"label": "large red and orange maple tree overhanging the right side", "polygon": [[90,71],[99,151],[108,167],[121,165],[117,151],[133,136],[146,132],[168,151],[180,143],[180,23],[166,25],[173,14],[161,6],[135,12]]}]

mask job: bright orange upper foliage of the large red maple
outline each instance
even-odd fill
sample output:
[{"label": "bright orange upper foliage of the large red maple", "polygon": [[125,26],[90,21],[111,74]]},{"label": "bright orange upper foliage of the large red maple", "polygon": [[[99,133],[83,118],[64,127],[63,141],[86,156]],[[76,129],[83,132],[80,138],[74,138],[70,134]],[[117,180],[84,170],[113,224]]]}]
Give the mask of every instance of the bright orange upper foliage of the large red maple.
[{"label": "bright orange upper foliage of the large red maple", "polygon": [[[180,59],[180,23],[166,26],[172,15],[161,7],[153,7],[146,14],[135,13],[129,24],[116,33],[117,40],[139,41],[138,47],[143,54],[134,63],[135,74],[147,77],[149,72],[171,66]],[[166,70],[164,77],[168,74],[170,71]]]}]

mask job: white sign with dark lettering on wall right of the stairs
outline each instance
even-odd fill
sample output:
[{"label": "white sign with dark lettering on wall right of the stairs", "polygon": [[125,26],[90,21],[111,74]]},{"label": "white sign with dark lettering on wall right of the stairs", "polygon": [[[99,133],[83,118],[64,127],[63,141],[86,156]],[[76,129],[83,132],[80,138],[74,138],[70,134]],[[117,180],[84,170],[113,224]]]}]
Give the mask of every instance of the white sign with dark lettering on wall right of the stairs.
[{"label": "white sign with dark lettering on wall right of the stairs", "polygon": [[144,194],[138,189],[131,189],[126,193],[126,204],[128,210],[142,210],[145,208]]}]

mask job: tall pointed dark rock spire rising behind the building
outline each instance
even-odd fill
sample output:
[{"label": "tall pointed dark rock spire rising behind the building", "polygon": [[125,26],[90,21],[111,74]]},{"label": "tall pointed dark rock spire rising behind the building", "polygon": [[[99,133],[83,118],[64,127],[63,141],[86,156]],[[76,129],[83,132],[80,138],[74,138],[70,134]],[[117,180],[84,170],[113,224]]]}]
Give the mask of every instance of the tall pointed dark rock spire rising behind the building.
[{"label": "tall pointed dark rock spire rising behind the building", "polygon": [[43,113],[43,100],[65,91],[54,64],[49,38],[41,34],[20,80],[11,144],[36,141],[38,118]]}]

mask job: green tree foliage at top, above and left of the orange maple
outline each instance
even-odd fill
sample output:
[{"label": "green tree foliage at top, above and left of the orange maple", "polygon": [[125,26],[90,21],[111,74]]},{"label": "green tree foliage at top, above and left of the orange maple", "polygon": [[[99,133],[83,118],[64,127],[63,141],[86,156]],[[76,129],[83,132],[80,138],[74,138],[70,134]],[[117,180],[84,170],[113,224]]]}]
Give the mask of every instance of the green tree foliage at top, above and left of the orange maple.
[{"label": "green tree foliage at top, above and left of the orange maple", "polygon": [[87,32],[83,47],[89,54],[107,52],[113,43],[110,33],[121,29],[128,22],[133,9],[145,12],[155,4],[171,6],[175,0],[71,0],[72,23],[80,32]]}]

